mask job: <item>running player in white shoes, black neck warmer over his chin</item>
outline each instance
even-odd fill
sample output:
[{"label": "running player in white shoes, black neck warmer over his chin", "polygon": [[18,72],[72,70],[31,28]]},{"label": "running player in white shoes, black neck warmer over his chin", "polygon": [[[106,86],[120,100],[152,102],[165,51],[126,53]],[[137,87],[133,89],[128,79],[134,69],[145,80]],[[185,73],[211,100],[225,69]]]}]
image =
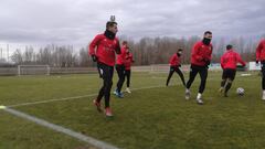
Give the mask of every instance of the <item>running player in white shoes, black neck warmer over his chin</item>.
[{"label": "running player in white shoes, black neck warmer over his chin", "polygon": [[208,65],[210,65],[212,58],[212,50],[213,46],[211,44],[212,32],[204,32],[203,40],[197,42],[192,49],[191,53],[191,66],[190,66],[190,78],[187,82],[186,88],[186,99],[190,98],[190,87],[193,83],[197,74],[200,74],[201,84],[199,88],[199,93],[197,95],[197,103],[202,105],[202,93],[205,88],[206,77],[208,77]]}]

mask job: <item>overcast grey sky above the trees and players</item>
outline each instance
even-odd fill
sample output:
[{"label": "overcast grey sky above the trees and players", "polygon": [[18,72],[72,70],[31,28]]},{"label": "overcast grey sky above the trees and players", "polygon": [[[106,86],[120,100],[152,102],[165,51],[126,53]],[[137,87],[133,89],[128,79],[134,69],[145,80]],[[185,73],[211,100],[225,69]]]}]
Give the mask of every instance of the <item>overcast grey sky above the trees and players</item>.
[{"label": "overcast grey sky above the trees and players", "polygon": [[253,36],[265,32],[265,0],[1,0],[0,43],[87,43],[110,14],[119,32],[142,36]]}]

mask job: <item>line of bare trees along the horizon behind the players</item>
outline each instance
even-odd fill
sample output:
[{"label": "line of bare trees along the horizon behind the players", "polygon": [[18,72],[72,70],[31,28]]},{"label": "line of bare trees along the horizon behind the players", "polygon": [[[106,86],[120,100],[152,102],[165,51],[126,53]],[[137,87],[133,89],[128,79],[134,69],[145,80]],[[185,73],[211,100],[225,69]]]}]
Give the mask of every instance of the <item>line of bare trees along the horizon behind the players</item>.
[{"label": "line of bare trees along the horizon behind the players", "polygon": [[[127,38],[121,38],[120,41]],[[167,64],[169,57],[178,49],[183,50],[182,63],[190,63],[192,46],[200,41],[199,36],[191,38],[142,38],[139,41],[127,40],[135,57],[135,65]],[[221,38],[214,40],[212,62],[220,62],[220,56],[225,51],[227,43],[232,44],[241,53],[244,61],[255,60],[255,49],[258,41],[237,38],[230,41]],[[88,46],[88,45],[87,45]],[[83,67],[95,66],[95,63],[88,56],[86,47],[75,50],[73,45],[45,45],[39,50],[26,46],[24,50],[17,49],[11,54],[11,60],[15,65],[50,65],[55,67]]]}]

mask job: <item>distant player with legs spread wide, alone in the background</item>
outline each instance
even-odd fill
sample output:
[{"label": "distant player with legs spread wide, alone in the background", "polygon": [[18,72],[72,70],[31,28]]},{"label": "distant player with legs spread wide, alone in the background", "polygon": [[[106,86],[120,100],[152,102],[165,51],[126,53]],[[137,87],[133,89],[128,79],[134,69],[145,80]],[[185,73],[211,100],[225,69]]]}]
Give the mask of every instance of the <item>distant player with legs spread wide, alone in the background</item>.
[{"label": "distant player with legs spread wide, alone in the background", "polygon": [[180,78],[182,81],[182,84],[186,86],[184,76],[179,68],[179,67],[181,67],[181,55],[182,55],[182,49],[179,49],[178,52],[174,53],[169,60],[170,70],[169,70],[169,75],[168,75],[168,79],[166,83],[167,86],[168,86],[170,78],[174,72],[178,73],[178,75],[180,76]]}]

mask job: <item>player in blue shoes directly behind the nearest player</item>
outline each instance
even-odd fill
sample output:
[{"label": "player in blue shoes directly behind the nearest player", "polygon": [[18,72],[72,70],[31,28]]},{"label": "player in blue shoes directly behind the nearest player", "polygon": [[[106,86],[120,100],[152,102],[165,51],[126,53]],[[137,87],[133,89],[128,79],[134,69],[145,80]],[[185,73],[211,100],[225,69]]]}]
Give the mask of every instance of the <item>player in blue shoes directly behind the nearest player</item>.
[{"label": "player in blue shoes directly behind the nearest player", "polygon": [[125,65],[124,65],[124,63],[125,63],[127,49],[128,49],[128,43],[127,43],[127,41],[124,41],[120,54],[117,55],[117,61],[116,61],[116,71],[118,74],[118,82],[117,82],[117,87],[116,87],[116,91],[114,92],[114,94],[119,98],[124,97],[124,94],[120,91],[121,91],[124,82],[125,82]]}]

